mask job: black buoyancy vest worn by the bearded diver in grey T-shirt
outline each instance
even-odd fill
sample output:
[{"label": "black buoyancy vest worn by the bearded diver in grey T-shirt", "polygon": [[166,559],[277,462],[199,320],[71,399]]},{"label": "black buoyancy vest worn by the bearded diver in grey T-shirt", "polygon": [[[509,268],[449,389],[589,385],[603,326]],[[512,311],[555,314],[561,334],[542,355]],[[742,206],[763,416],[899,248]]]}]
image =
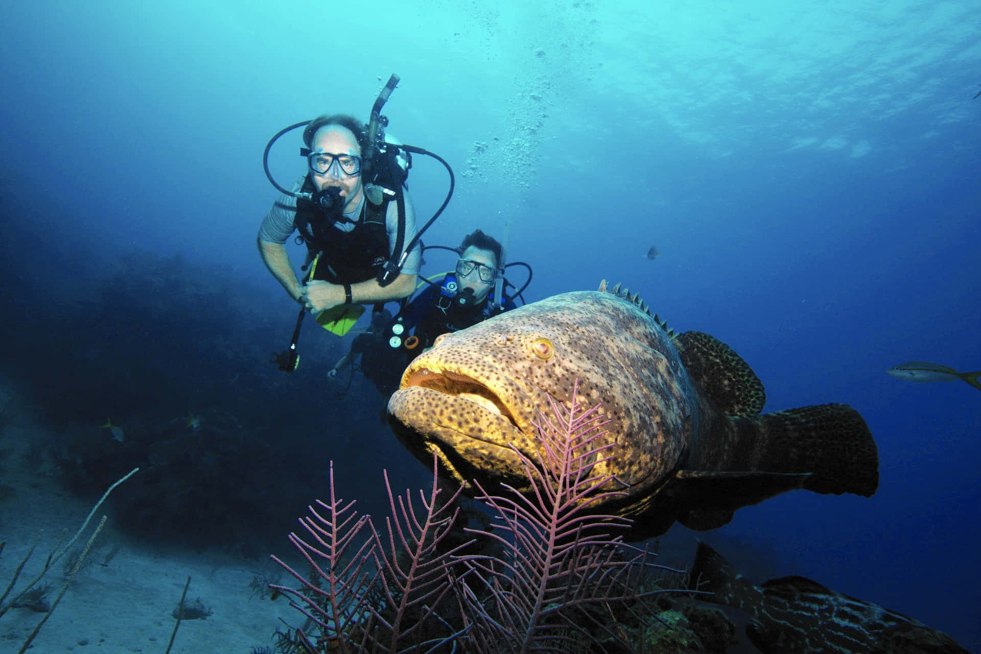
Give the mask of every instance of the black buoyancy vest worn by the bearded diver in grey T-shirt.
[{"label": "black buoyancy vest worn by the bearded diver in grey T-shirt", "polygon": [[[313,192],[314,185],[309,176],[304,179],[301,190]],[[357,283],[379,276],[388,259],[386,219],[391,199],[385,195],[381,204],[375,205],[366,195],[360,219],[353,229],[342,231],[313,202],[297,198],[293,225],[299,230],[311,258],[322,253],[314,279]]]}]

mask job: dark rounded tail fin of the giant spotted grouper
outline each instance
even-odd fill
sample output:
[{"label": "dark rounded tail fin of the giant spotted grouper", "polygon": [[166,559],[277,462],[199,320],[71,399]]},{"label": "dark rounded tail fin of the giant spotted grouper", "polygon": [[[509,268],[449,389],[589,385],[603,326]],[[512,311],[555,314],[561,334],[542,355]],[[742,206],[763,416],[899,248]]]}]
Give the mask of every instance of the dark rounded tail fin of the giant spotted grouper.
[{"label": "dark rounded tail fin of the giant spotted grouper", "polygon": [[734,422],[737,428],[755,423],[759,429],[748,470],[809,473],[803,487],[817,493],[868,497],[879,487],[879,452],[872,432],[847,404],[800,407]]}]

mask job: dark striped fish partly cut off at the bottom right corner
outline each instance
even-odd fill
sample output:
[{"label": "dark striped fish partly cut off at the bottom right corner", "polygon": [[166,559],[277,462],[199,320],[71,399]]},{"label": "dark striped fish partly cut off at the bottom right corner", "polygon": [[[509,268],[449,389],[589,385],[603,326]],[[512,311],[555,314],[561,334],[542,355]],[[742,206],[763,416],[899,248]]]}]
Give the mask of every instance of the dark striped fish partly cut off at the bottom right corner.
[{"label": "dark striped fish partly cut off at the bottom right corner", "polygon": [[749,613],[747,635],[765,654],[967,654],[942,631],[810,579],[754,585],[705,543],[691,585],[713,593],[708,601]]}]

